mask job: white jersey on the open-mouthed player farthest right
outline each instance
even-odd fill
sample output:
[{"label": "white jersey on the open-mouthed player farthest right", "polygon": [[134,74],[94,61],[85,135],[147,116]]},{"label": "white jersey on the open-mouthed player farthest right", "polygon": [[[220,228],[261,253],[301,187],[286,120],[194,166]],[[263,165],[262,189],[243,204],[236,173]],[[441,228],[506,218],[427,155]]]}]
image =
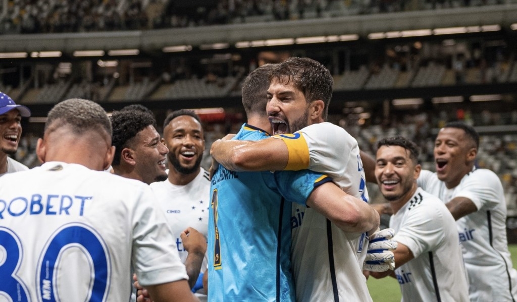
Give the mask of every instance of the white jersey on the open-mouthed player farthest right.
[{"label": "white jersey on the open-mouthed player farthest right", "polygon": [[447,189],[436,173],[422,170],[418,184],[447,203],[465,197],[477,207],[456,221],[463,259],[469,277],[471,301],[517,300],[517,271],[513,268],[506,237],[506,202],[497,175],[473,169],[460,184]]}]

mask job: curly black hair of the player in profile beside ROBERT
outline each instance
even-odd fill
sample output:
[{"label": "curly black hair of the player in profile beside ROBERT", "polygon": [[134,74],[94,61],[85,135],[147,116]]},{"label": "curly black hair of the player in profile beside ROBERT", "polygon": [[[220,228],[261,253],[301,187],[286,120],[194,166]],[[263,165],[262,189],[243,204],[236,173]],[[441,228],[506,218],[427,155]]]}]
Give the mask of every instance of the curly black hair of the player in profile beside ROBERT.
[{"label": "curly black hair of the player in profile beside ROBERT", "polygon": [[147,126],[155,126],[153,115],[140,110],[115,111],[110,117],[113,126],[112,146],[115,146],[115,156],[112,166],[120,165],[120,154],[124,148],[129,147],[131,139]]}]

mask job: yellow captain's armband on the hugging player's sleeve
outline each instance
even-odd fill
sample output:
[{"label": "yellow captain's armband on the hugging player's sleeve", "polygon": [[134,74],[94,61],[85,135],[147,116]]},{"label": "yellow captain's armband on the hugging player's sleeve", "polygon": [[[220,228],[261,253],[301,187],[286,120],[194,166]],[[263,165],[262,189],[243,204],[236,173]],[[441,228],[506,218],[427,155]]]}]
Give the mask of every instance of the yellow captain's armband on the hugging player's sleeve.
[{"label": "yellow captain's armband on the hugging player's sleeve", "polygon": [[287,145],[289,159],[284,170],[297,171],[307,169],[309,167],[309,147],[305,137],[300,133],[279,134],[272,136],[280,138]]}]

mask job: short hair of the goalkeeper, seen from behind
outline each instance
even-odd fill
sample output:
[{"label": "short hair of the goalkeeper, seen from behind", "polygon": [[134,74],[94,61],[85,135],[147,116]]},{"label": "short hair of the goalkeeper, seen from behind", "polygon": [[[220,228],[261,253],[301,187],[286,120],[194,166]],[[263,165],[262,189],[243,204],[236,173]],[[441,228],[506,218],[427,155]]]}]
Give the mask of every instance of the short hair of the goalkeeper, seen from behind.
[{"label": "short hair of the goalkeeper, seen from behind", "polygon": [[249,115],[267,116],[267,89],[269,74],[278,64],[265,64],[253,70],[242,83],[242,105]]}]

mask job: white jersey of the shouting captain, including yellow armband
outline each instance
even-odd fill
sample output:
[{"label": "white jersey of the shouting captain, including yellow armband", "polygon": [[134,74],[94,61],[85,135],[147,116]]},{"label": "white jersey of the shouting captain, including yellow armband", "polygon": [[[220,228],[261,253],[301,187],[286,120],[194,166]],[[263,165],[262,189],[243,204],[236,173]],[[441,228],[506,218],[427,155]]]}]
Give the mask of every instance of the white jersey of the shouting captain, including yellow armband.
[{"label": "white jersey of the shouting captain, including yellow armband", "polygon": [[[286,169],[330,176],[346,193],[368,202],[357,141],[340,126],[324,122],[294,134],[277,135],[289,149]],[[347,233],[316,211],[293,204],[292,265],[297,301],[371,301],[362,264],[366,234]]]}]

